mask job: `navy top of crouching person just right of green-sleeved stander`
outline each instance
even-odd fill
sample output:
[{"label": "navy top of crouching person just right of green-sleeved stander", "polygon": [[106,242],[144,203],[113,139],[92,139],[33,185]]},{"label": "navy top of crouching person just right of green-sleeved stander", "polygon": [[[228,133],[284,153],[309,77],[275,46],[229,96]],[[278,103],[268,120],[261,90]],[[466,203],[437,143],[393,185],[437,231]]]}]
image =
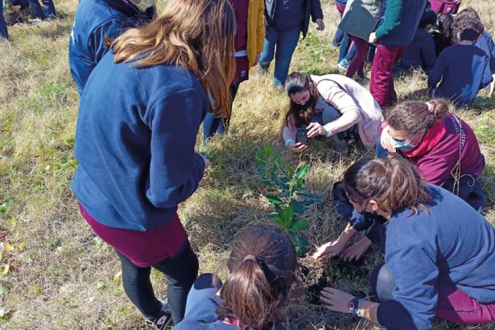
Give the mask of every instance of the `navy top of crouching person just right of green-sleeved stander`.
[{"label": "navy top of crouching person just right of green-sleeved stander", "polygon": [[433,37],[424,30],[418,28],[414,40],[407,45],[407,49],[400,59],[399,65],[406,68],[421,68],[429,71],[436,61],[435,42]]}]

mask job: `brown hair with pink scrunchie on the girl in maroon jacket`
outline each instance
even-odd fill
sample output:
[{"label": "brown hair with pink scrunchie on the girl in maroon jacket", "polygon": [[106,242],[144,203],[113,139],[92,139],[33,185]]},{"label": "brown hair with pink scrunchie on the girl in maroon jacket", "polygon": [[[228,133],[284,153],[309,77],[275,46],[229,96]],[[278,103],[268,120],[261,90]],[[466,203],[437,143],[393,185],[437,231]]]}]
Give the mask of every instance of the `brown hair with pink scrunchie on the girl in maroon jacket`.
[{"label": "brown hair with pink scrunchie on the girl in maroon jacket", "polygon": [[386,118],[390,127],[412,137],[419,131],[429,131],[433,124],[443,120],[447,113],[448,103],[441,98],[435,98],[429,102],[402,102],[388,110]]}]

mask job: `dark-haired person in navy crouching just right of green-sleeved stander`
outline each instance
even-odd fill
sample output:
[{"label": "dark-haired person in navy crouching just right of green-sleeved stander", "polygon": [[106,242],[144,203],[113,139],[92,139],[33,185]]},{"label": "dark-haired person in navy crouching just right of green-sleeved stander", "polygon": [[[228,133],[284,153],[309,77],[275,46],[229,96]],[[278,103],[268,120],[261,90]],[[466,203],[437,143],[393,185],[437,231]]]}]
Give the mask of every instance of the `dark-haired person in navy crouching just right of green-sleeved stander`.
[{"label": "dark-haired person in navy crouching just right of green-sleeved stander", "polygon": [[436,23],[436,14],[433,11],[425,11],[419,21],[416,35],[407,45],[404,54],[395,68],[395,74],[408,73],[412,69],[429,71],[436,61],[435,42],[428,30]]}]

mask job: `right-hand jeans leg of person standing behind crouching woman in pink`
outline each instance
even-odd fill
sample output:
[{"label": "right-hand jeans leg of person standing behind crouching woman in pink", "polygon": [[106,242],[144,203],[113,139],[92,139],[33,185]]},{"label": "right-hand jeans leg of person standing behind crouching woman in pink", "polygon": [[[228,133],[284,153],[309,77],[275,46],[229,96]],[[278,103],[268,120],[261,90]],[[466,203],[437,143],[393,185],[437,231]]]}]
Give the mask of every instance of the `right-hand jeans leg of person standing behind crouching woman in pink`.
[{"label": "right-hand jeans leg of person standing behind crouching woman in pink", "polygon": [[289,73],[289,66],[291,66],[292,55],[294,54],[294,50],[296,50],[300,34],[301,28],[299,26],[291,30],[279,31],[275,53],[275,86],[283,86],[285,84],[287,73]]}]

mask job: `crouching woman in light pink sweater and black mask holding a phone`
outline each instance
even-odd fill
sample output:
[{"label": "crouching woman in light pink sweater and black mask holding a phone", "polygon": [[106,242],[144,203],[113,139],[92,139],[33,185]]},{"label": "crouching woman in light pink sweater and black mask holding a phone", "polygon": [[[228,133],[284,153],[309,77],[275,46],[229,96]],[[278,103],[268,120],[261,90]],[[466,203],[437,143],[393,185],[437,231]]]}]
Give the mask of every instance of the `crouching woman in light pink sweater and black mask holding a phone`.
[{"label": "crouching woman in light pink sweater and black mask holding a phone", "polygon": [[294,72],[287,77],[285,86],[290,105],[285,116],[284,142],[291,151],[307,148],[306,143],[297,141],[301,135],[310,139],[332,136],[339,152],[347,150],[347,142],[339,134],[345,131],[357,131],[368,148],[378,141],[383,120],[380,105],[351,78]]}]

